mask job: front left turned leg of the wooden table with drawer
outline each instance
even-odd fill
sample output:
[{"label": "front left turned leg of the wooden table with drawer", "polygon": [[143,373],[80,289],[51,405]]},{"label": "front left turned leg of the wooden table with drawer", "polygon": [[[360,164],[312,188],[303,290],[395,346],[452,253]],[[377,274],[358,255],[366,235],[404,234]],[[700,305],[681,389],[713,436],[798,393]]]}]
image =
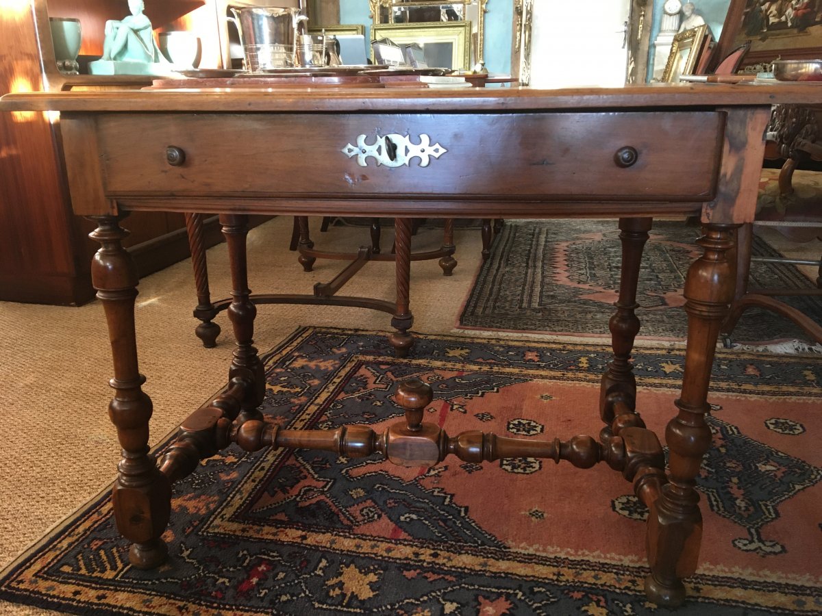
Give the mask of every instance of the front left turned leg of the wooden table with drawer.
[{"label": "front left turned leg of the wooden table with drawer", "polygon": [[155,568],[167,558],[169,549],[160,538],[169,524],[171,486],[149,455],[151,399],[143,393],[145,377],[137,365],[134,331],[134,299],[137,296],[136,268],[122,247],[128,232],[118,218],[92,218],[97,228],[90,237],[100,249],[91,261],[91,278],[109,324],[114,364],[114,398],[109,417],[117,427],[122,459],[114,482],[112,502],[120,534],[132,541],[128,559],[135,567]]}]

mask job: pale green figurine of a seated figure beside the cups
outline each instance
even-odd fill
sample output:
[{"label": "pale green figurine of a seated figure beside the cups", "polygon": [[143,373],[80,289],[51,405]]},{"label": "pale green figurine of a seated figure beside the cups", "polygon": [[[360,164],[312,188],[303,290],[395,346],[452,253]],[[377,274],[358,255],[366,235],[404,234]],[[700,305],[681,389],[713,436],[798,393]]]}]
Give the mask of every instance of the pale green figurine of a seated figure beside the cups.
[{"label": "pale green figurine of a seated figure beside the cups", "polygon": [[[105,22],[103,57],[90,62],[92,75],[158,75],[169,72],[169,63],[155,43],[143,0],[128,0],[132,14]],[[165,65],[165,66],[163,66]]]}]

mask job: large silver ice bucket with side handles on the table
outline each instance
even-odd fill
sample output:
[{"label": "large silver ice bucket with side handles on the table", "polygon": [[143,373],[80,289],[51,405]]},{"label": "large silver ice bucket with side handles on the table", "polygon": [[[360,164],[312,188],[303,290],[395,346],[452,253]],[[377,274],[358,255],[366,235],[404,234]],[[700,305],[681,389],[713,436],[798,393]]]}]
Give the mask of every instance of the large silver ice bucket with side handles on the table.
[{"label": "large silver ice bucket with side handles on the table", "polygon": [[229,7],[240,34],[247,71],[298,66],[297,41],[308,17],[298,8]]}]

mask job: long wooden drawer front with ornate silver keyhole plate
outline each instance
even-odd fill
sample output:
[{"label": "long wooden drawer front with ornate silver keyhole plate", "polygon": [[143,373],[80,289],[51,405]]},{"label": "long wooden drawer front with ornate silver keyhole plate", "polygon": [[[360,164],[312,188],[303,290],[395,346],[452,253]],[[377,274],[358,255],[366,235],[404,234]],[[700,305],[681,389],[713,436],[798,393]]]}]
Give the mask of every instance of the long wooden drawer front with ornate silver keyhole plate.
[{"label": "long wooden drawer front with ornate silver keyhole plate", "polygon": [[113,197],[703,201],[723,115],[112,115],[98,135]]}]

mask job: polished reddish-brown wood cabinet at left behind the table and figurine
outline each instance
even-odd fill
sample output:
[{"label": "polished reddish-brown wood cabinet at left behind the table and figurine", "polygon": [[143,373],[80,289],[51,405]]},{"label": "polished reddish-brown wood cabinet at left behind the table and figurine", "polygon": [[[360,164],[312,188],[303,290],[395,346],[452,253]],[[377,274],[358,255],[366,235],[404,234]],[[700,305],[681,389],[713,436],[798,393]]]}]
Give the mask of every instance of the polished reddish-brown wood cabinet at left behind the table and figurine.
[{"label": "polished reddish-brown wood cabinet at left behind the table and figurine", "polygon": [[[82,57],[99,57],[104,24],[127,15],[125,2],[12,0],[0,10],[0,94],[38,90],[140,88],[145,76],[65,76],[57,69],[48,18],[76,17]],[[145,0],[155,30],[193,30],[202,67],[221,67],[228,53],[224,0]],[[61,159],[59,114],[0,114],[0,301],[80,305],[94,297],[88,233],[72,215]],[[141,274],[188,255],[182,214],[135,213],[123,226]],[[214,221],[210,244],[219,241]]]}]

